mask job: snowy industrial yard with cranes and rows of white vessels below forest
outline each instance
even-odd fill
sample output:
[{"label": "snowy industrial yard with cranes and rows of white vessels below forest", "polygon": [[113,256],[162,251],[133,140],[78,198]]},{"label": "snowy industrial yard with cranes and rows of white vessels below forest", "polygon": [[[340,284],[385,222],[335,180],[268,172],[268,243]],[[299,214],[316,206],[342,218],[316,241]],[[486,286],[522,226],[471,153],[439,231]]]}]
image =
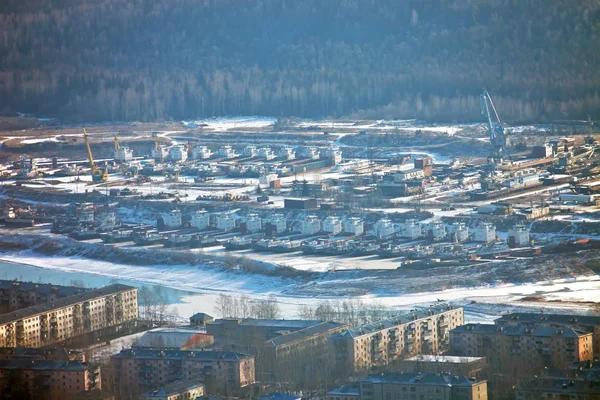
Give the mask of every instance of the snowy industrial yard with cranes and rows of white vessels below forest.
[{"label": "snowy industrial yard with cranes and rows of white vessels below forest", "polygon": [[[259,274],[399,271],[466,283],[477,271],[481,285],[591,274],[600,245],[593,124],[505,128],[494,113],[464,125],[36,121],[1,132],[3,242],[187,254]],[[585,262],[538,268],[535,278],[495,272],[559,255]]]}]

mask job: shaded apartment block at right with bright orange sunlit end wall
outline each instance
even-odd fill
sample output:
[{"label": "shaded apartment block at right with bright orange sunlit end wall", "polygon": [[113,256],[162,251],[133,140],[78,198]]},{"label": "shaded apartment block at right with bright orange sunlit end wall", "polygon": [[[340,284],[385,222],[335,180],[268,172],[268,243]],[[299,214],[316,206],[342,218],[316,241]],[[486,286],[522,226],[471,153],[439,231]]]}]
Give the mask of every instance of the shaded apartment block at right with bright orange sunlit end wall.
[{"label": "shaded apartment block at right with bright orange sunlit end wall", "polygon": [[592,334],[563,327],[467,324],[450,332],[450,347],[454,355],[485,356],[491,370],[513,375],[593,358]]}]

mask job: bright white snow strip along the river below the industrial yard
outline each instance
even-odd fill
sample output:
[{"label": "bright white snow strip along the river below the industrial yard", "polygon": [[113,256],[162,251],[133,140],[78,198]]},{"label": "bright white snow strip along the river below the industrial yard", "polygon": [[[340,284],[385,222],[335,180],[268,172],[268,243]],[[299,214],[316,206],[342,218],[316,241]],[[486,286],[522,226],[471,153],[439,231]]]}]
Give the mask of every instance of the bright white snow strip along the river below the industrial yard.
[{"label": "bright white snow strip along the river below the industrial yard", "polygon": [[[197,311],[217,314],[215,302],[221,293],[232,296],[248,295],[254,299],[264,299],[269,295],[277,296],[282,316],[297,316],[300,305],[314,305],[324,297],[297,296],[286,292],[290,280],[241,273],[237,270],[219,271],[198,268],[189,265],[180,266],[129,266],[109,262],[94,261],[70,257],[39,257],[26,254],[5,254],[2,259],[56,270],[60,273],[83,272],[86,274],[108,276],[148,284],[158,284],[190,294],[177,304],[182,317],[189,317]],[[18,269],[18,265],[15,266]],[[68,276],[68,274],[67,274]],[[473,310],[473,319],[477,321],[493,319],[515,305],[523,306],[524,296],[543,296],[546,302],[529,302],[529,308],[566,308],[577,311],[578,306],[563,305],[569,301],[600,300],[600,276],[588,276],[572,279],[557,279],[526,284],[506,284],[484,287],[458,288],[424,293],[391,295],[386,293],[361,296],[367,304],[384,305],[391,309],[408,309],[417,305],[428,305],[438,299],[456,304],[464,304],[467,310]],[[340,299],[340,297],[336,297]],[[558,301],[549,303],[550,301]],[[580,306],[579,306],[580,307]],[[579,310],[583,311],[583,310]],[[218,315],[218,314],[217,314]]]}]

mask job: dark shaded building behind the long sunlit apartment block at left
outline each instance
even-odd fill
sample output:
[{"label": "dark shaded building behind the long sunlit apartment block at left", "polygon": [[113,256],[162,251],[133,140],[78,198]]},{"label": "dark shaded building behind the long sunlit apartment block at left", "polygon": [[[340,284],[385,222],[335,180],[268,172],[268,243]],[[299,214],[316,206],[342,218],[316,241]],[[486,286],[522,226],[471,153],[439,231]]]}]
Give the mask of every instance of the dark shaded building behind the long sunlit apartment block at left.
[{"label": "dark shaded building behind the long sunlit apartment block at left", "polygon": [[89,289],[74,286],[59,286],[49,283],[33,283],[0,280],[0,313],[4,314],[27,308],[36,304],[47,303],[62,297],[83,293]]}]

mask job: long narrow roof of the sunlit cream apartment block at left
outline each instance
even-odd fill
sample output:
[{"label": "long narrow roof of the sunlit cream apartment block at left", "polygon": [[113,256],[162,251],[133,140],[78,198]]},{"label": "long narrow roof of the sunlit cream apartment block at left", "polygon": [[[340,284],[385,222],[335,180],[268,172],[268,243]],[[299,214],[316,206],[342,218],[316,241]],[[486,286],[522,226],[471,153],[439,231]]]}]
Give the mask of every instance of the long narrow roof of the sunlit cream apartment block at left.
[{"label": "long narrow roof of the sunlit cream apartment block at left", "polygon": [[44,304],[22,308],[18,311],[0,315],[0,325],[7,324],[9,322],[13,322],[15,320],[23,318],[33,317],[34,315],[46,313],[57,308],[68,307],[73,304],[81,303],[82,301],[88,301],[109,294],[115,294],[133,289],[137,290],[137,288],[133,286],[116,284],[105,286],[99,289],[88,290],[86,292],[79,293],[73,296],[63,297],[62,299],[56,299]]}]

